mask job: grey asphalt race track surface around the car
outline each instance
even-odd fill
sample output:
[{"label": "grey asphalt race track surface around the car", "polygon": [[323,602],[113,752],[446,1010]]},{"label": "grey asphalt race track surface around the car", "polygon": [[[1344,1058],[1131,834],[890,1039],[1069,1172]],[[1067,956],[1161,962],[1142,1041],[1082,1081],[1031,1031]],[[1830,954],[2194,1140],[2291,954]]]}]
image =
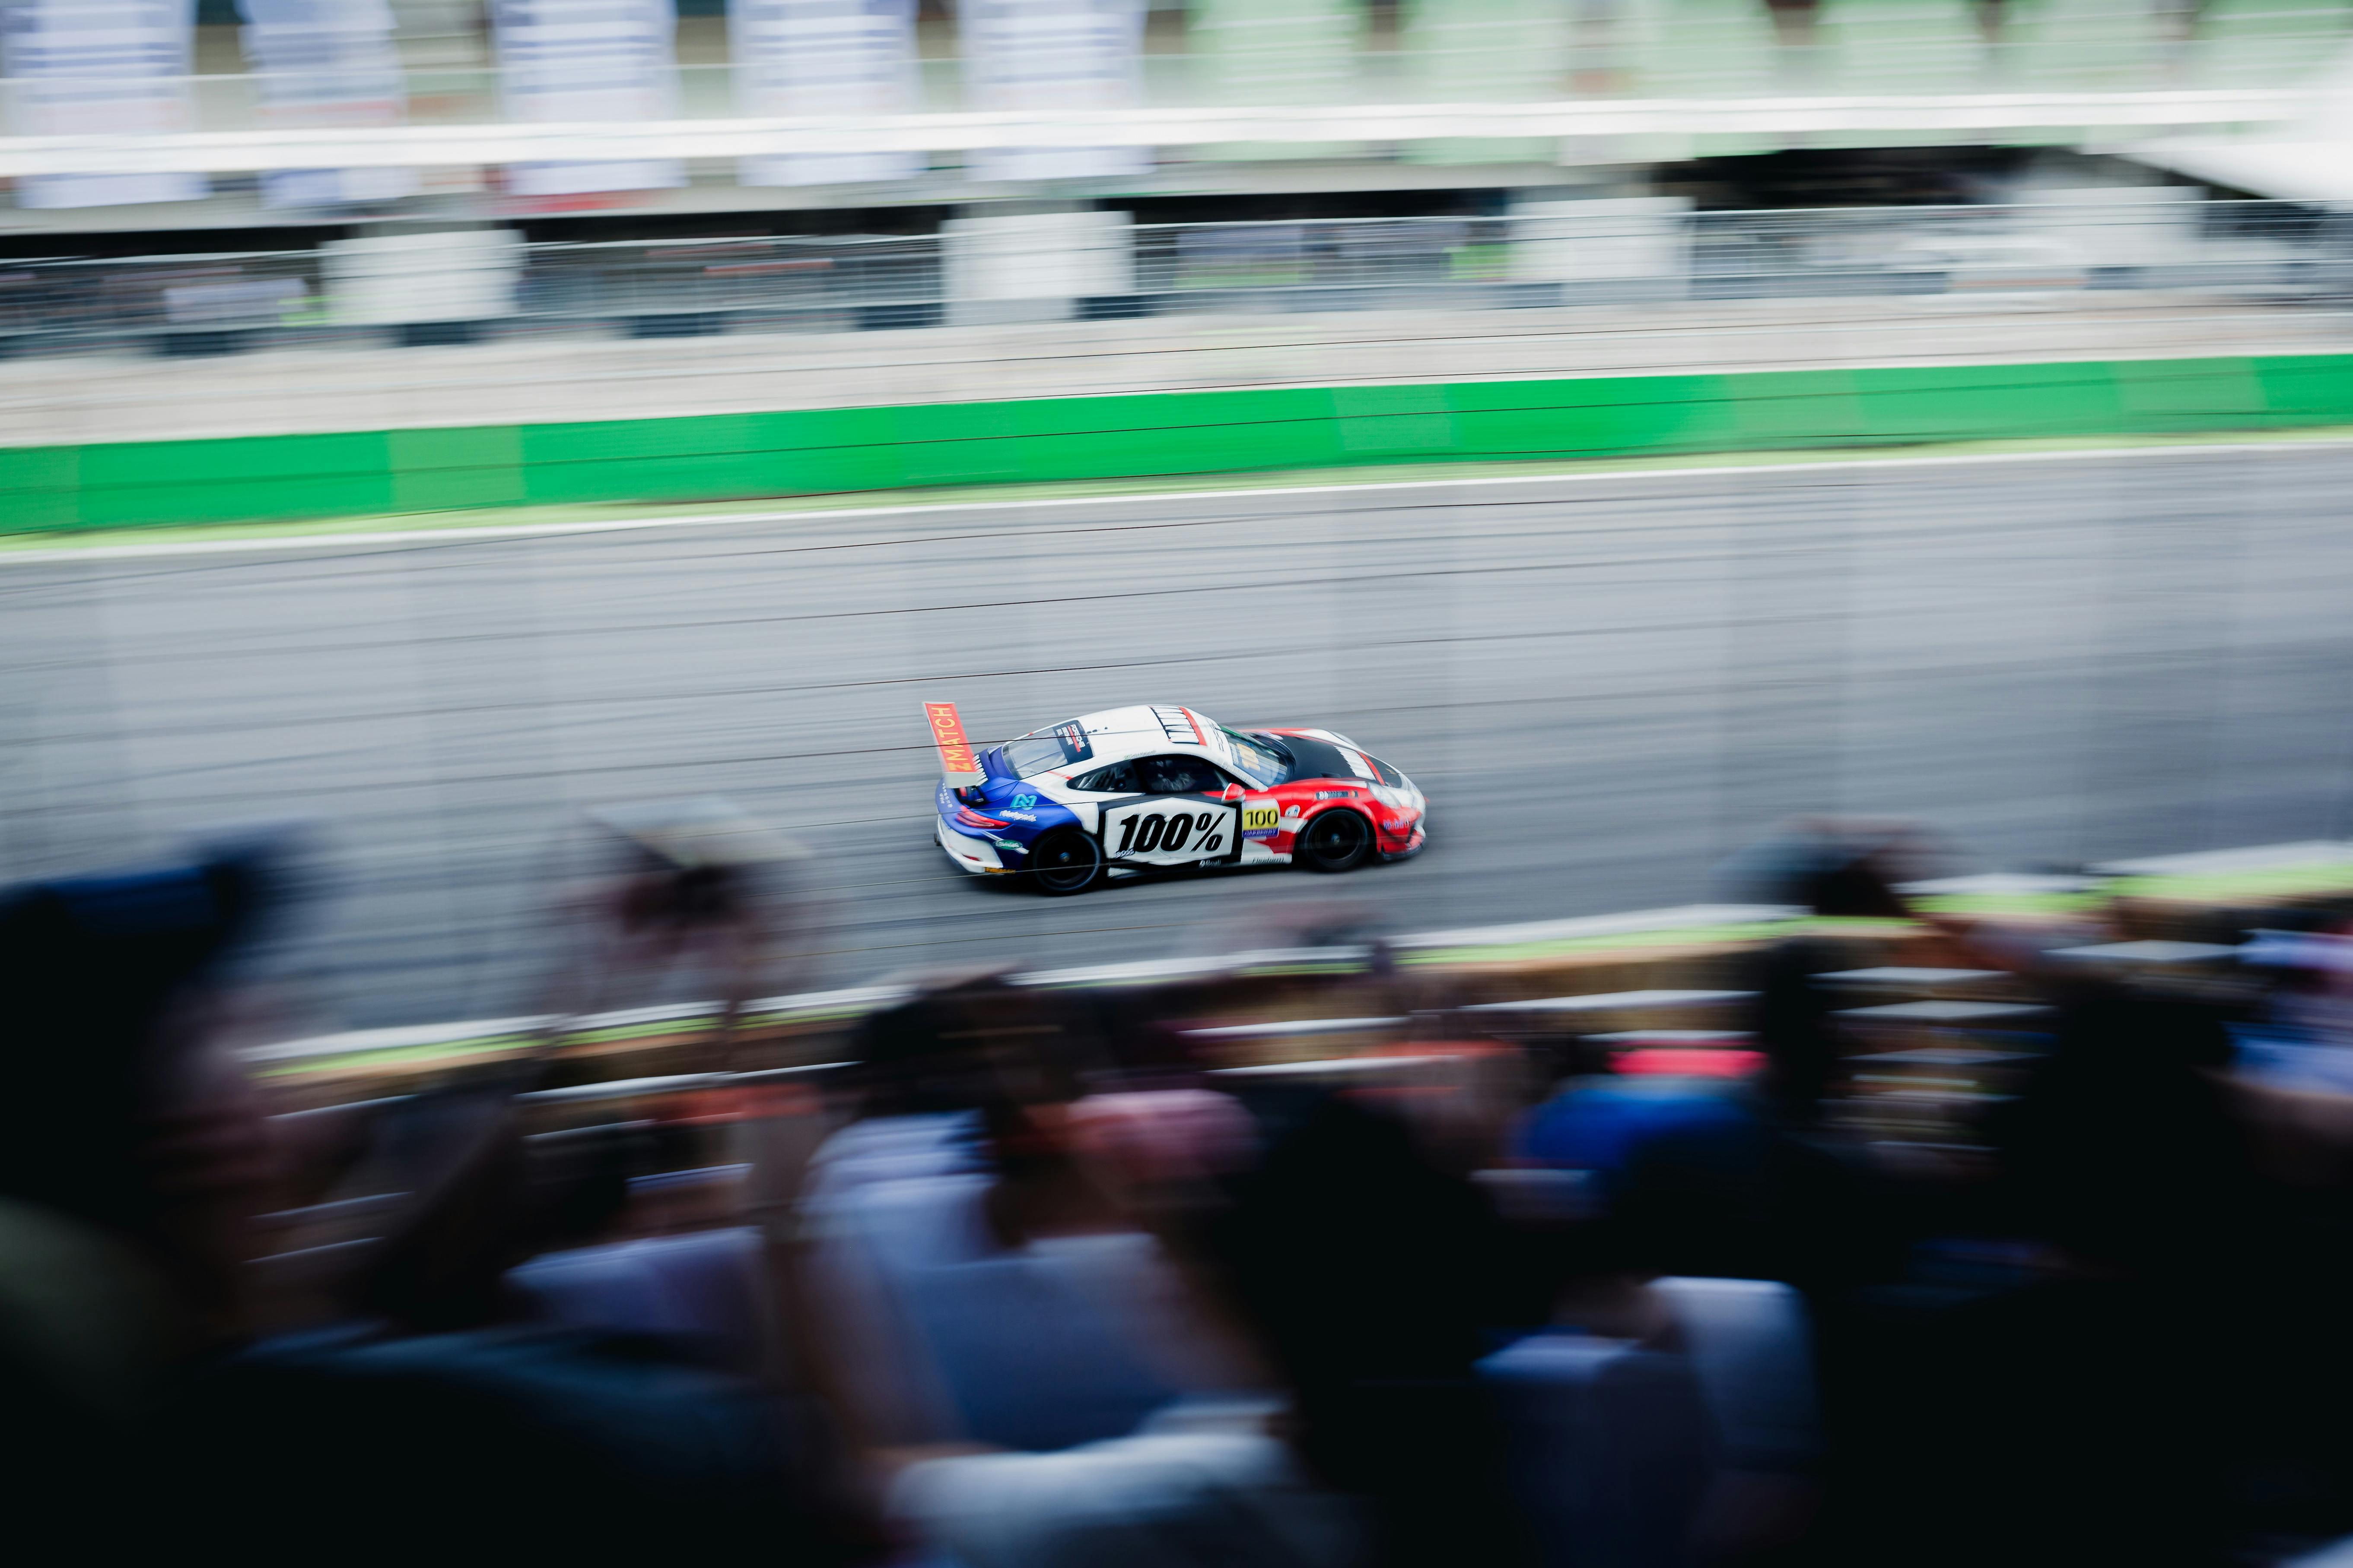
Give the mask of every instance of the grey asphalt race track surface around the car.
[{"label": "grey asphalt race track surface around the car", "polygon": [[[2344,837],[2353,449],[1200,494],[0,562],[0,856],[318,823],[306,1025],[527,1011],[600,802],[727,795],[819,860],[805,983],[1713,898],[1791,813],[1953,870]],[[929,842],[920,698],[1002,738],[1179,701],[1327,724],[1419,860],[1045,900]],[[1207,922],[1217,922],[1209,926]]]}]

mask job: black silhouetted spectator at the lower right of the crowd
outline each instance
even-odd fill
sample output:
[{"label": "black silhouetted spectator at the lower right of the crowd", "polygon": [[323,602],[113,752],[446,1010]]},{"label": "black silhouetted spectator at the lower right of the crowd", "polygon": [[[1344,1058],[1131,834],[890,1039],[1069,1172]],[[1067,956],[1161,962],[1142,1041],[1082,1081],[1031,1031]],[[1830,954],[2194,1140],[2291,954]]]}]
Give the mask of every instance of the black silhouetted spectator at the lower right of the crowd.
[{"label": "black silhouetted spectator at the lower right of the crowd", "polygon": [[2209,1011],[2092,987],[1998,1119],[2012,1213],[2068,1267],[1939,1326],[1937,1469],[1977,1497],[1939,1542],[1951,1561],[1993,1542],[2049,1563],[2224,1561],[2249,1408],[2228,1387],[2264,1333],[2254,1171],[2209,1077],[2226,1060]]}]

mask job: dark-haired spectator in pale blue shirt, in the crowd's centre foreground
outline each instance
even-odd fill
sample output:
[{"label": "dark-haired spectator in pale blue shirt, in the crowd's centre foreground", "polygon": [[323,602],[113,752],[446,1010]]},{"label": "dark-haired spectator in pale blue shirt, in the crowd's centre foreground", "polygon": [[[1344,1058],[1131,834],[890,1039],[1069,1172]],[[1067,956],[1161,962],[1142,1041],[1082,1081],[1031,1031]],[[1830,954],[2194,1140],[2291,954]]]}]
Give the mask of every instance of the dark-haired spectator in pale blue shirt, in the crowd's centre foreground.
[{"label": "dark-haired spectator in pale blue shirt, in the crowd's centre foreground", "polygon": [[1240,1110],[1082,1098],[1087,1030],[986,978],[861,1041],[896,1114],[819,1152],[802,1272],[889,1514],[972,1568],[1348,1561],[1348,1505],[1268,1432],[1280,1392],[1144,1229],[1247,1157]]}]

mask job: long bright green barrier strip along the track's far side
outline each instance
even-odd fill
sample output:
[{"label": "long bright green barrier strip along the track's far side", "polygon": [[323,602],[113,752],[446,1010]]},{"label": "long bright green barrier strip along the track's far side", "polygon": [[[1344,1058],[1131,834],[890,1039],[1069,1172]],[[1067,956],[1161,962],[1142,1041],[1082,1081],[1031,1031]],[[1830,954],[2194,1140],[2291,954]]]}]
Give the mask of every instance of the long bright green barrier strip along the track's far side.
[{"label": "long bright green barrier strip along the track's far side", "polygon": [[0,449],[0,531],[2353,423],[2353,355],[1035,397]]}]

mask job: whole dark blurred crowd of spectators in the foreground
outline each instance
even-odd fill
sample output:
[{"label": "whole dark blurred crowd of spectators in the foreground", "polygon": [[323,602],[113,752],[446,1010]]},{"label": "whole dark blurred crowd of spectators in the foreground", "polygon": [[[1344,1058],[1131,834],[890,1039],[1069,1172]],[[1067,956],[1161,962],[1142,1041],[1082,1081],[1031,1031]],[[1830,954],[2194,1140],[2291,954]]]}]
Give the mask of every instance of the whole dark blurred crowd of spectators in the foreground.
[{"label": "whole dark blurred crowd of spectators in the foreground", "polygon": [[[19,886],[7,1476],[82,1552],[266,1561],[2224,1563],[2353,1535],[2353,938],[2306,907],[2195,978],[2064,961],[2082,931],[1925,912],[1901,856],[1824,825],[1748,867],[1821,919],[1753,954],[1737,1046],[1468,1009],[1242,1063],[962,973],[842,1063],[631,1084],[525,1051],[318,1103],[224,1032],[282,846]],[[722,905],[706,877],[668,917]],[[1842,931],[1894,919],[1920,973],[2040,1009],[1946,1145],[1835,1114],[1868,1072]]]}]

